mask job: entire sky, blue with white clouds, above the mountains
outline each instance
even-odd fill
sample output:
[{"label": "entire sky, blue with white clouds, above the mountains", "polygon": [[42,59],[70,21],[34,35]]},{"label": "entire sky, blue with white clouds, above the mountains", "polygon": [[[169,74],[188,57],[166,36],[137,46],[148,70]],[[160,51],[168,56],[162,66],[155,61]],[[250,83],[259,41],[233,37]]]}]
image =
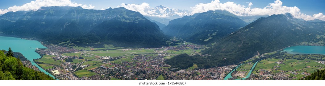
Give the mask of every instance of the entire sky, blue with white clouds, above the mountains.
[{"label": "entire sky, blue with white clouds, above the mountains", "polygon": [[[192,13],[217,9],[227,10],[237,16],[289,12],[297,18],[305,20],[325,20],[325,16],[322,14],[325,13],[323,4],[325,4],[325,0],[0,0],[0,14],[8,11],[37,10],[40,6],[61,5],[81,6],[85,9],[117,8],[123,5],[127,9],[133,7],[134,11],[143,11],[142,13],[144,13],[150,8],[164,5],[169,8],[186,9]],[[135,7],[137,8],[135,9]]]}]

